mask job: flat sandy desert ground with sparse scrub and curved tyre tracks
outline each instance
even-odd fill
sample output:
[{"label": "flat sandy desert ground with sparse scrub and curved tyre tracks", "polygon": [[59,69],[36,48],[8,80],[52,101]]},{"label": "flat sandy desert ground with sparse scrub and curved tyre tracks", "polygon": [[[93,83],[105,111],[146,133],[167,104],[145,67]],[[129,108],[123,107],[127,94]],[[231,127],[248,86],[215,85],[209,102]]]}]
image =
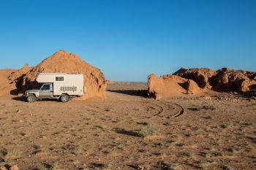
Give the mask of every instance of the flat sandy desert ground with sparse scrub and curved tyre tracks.
[{"label": "flat sandy desert ground with sparse scrub and curved tyre tracks", "polygon": [[[255,169],[256,102],[230,93],[154,100],[0,98],[0,165],[19,169]],[[138,89],[140,88],[140,89]]]}]

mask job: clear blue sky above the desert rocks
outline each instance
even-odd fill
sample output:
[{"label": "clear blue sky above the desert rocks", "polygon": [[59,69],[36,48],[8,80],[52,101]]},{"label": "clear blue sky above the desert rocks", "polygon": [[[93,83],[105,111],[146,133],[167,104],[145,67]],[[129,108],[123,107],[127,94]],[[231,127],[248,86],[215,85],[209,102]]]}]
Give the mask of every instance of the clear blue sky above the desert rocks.
[{"label": "clear blue sky above the desert rocks", "polygon": [[256,71],[255,0],[0,0],[0,68],[57,50],[109,80],[143,81],[181,66]]}]

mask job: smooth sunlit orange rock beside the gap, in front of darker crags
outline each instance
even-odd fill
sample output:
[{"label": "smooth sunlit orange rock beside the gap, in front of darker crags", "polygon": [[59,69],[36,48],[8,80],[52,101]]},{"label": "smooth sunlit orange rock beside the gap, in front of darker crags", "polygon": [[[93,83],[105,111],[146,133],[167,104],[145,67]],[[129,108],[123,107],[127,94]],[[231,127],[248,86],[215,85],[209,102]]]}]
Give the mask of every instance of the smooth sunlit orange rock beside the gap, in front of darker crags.
[{"label": "smooth sunlit orange rock beside the gap, in front of darker crags", "polygon": [[193,80],[187,80],[173,74],[157,77],[148,76],[148,95],[156,99],[197,94],[202,91]]}]

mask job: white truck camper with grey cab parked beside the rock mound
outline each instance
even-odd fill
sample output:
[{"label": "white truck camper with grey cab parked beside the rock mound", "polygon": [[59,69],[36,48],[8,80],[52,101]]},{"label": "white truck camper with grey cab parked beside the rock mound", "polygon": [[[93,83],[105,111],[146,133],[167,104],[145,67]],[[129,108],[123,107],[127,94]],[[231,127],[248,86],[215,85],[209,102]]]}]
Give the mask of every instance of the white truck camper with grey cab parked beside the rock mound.
[{"label": "white truck camper with grey cab parked beside the rock mound", "polygon": [[83,74],[40,73],[37,82],[43,83],[41,88],[25,92],[29,102],[43,98],[57,98],[67,102],[69,98],[83,96],[83,93],[86,93]]}]

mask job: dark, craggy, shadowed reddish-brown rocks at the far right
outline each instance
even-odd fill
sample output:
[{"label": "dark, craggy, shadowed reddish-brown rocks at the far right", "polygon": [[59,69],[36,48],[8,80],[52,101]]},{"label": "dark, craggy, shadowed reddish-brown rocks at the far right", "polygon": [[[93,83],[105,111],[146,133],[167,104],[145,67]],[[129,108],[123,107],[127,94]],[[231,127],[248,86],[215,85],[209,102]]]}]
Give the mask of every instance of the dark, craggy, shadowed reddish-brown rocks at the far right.
[{"label": "dark, craggy, shadowed reddish-brown rocks at the far right", "polygon": [[202,69],[179,69],[177,76],[194,80],[200,88],[235,90],[246,92],[253,90],[256,85],[256,72],[247,72],[233,69],[219,69],[217,71]]}]

